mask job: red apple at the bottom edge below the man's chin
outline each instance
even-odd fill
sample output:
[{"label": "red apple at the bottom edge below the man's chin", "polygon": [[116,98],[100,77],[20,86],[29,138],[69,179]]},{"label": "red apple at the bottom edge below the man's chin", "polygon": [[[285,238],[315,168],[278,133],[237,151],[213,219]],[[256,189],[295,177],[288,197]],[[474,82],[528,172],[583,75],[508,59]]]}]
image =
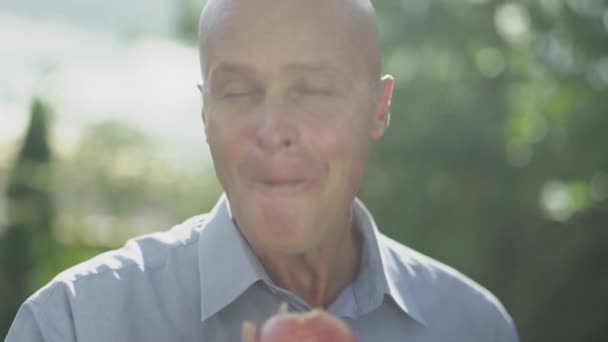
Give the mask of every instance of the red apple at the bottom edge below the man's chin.
[{"label": "red apple at the bottom edge below the man's chin", "polygon": [[323,310],[279,313],[260,332],[259,342],[357,342],[350,327]]}]

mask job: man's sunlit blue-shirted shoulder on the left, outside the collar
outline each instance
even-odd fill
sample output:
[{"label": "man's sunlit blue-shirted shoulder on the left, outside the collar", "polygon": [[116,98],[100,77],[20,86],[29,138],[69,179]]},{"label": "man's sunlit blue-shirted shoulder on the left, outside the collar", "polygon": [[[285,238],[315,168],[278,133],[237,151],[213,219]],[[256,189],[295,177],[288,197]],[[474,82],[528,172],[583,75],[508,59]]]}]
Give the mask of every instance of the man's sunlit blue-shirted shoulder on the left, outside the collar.
[{"label": "man's sunlit blue-shirted shoulder on the left, outside the collar", "polygon": [[198,291],[196,242],[206,220],[195,216],[131,239],[60,273],[21,306],[15,340],[28,331],[38,332],[38,339],[28,341],[129,340],[127,325],[144,329],[150,322],[168,334],[160,327],[163,315],[195,316],[190,307]]}]

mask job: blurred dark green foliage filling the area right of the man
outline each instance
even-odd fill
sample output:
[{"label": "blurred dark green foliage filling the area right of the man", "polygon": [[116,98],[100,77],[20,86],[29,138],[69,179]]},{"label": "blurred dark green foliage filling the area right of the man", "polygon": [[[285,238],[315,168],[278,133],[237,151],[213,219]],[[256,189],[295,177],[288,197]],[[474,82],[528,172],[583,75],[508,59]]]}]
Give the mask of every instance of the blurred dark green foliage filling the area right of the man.
[{"label": "blurred dark green foliage filling the area right of the man", "polygon": [[361,192],[381,229],[496,293],[523,340],[606,340],[607,6],[376,5],[397,81]]}]

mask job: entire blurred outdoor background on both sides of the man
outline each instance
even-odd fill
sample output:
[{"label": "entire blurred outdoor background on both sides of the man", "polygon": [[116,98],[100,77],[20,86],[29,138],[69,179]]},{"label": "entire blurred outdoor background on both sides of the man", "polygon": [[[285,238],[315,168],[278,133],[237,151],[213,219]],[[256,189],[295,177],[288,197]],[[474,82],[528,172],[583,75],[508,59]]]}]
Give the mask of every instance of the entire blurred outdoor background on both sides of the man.
[{"label": "entire blurred outdoor background on both sides of the man", "polygon": [[[203,2],[0,0],[0,337],[61,270],[216,201]],[[523,341],[608,341],[608,1],[375,5],[380,229],[494,292]]]}]

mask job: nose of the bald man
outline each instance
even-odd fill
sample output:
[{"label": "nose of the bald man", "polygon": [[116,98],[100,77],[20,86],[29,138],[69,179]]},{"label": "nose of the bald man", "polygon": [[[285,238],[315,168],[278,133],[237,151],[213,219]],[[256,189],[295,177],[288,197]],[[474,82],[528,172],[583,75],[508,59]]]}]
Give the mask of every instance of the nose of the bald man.
[{"label": "nose of the bald man", "polygon": [[277,153],[290,149],[297,143],[298,131],[287,111],[284,105],[271,101],[266,101],[261,106],[256,139],[262,150]]}]

